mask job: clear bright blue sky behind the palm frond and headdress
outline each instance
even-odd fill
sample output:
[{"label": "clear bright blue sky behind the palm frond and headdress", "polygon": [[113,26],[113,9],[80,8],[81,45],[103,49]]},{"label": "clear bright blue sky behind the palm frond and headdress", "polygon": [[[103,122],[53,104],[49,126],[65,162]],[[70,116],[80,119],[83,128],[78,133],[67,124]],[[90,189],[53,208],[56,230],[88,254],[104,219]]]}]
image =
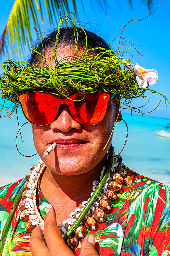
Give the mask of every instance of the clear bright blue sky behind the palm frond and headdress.
[{"label": "clear bright blue sky behind the palm frond and headdress", "polygon": [[[71,6],[71,0],[68,1]],[[77,1],[78,2],[78,1]],[[96,3],[95,1],[93,1]],[[152,11],[156,9],[160,2],[153,1],[154,5]],[[2,34],[8,19],[10,10],[14,0],[9,0],[6,4],[3,4],[1,8],[1,24],[0,34]],[[138,20],[149,15],[147,7],[143,6],[138,0],[133,0],[134,6],[130,7],[128,0],[122,0],[120,3],[114,0],[108,0],[108,4],[111,8],[108,8],[108,17],[103,12],[99,12],[95,4],[92,7],[90,0],[83,1],[84,11],[81,7],[81,1],[78,2],[78,14],[77,22],[81,26],[90,30],[99,36],[103,37],[108,43],[110,43],[116,36],[120,36],[124,25],[131,19]],[[94,9],[95,8],[95,9]],[[126,36],[126,40],[130,42],[136,42],[135,47],[143,55],[138,54],[135,49],[130,49],[127,54],[127,58],[131,58],[131,63],[139,63],[142,67],[153,68],[159,74],[159,79],[156,84],[152,85],[153,90],[159,91],[167,96],[170,100],[169,90],[169,0],[163,0],[159,9],[149,16],[148,18],[140,22],[130,22],[124,29],[122,36]],[[46,22],[46,12],[44,10],[44,25],[47,31],[50,31],[50,25]],[[57,21],[55,22],[57,26]],[[36,39],[36,33],[32,28],[33,38]],[[118,39],[114,41],[112,48],[118,47]],[[129,44],[127,44],[129,47]],[[27,55],[29,55],[28,48],[26,47]],[[133,55],[133,58],[132,56]],[[5,60],[5,59],[3,59]],[[165,108],[164,99],[158,94],[147,93],[148,97],[152,97],[150,103],[145,106],[142,111],[148,112],[158,105],[159,107],[152,113],[146,114],[150,116],[159,116],[163,118],[170,118],[170,105],[167,104]],[[134,106],[144,105],[148,98],[136,99],[132,103]],[[124,110],[124,113],[129,113]]]}]

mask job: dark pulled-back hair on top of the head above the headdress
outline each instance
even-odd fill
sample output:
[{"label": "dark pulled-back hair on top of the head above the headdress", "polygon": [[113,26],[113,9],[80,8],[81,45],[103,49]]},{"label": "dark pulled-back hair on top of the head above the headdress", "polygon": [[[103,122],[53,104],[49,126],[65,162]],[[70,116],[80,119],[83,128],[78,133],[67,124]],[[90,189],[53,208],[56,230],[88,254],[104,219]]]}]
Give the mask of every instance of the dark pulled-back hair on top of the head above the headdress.
[{"label": "dark pulled-back hair on top of the head above the headdress", "polygon": [[[110,47],[107,44],[107,42],[102,39],[101,37],[97,36],[96,34],[82,28],[76,27],[76,30],[74,31],[74,27],[65,27],[60,29],[60,35],[58,37],[58,44],[57,47],[67,47],[67,46],[75,46],[75,35],[77,36],[78,33],[78,40],[77,40],[77,48],[83,48],[85,49],[86,46],[86,36],[84,31],[87,35],[87,50],[94,48],[94,47],[101,47],[104,49],[109,50]],[[54,48],[55,42],[56,42],[56,35],[58,33],[58,30],[53,31],[50,33],[46,38],[42,40],[44,50]],[[39,41],[36,43],[36,46],[38,45],[38,48],[43,51],[42,43]],[[34,46],[35,47],[35,46]],[[36,47],[35,47],[36,48]],[[102,52],[100,49],[96,49],[93,51],[93,54],[96,55],[98,53]],[[43,52],[42,52],[43,53]],[[32,54],[30,55],[30,58],[28,62],[30,65],[34,65],[37,63],[37,61],[40,60],[40,55],[38,55],[36,52],[32,51]]]}]

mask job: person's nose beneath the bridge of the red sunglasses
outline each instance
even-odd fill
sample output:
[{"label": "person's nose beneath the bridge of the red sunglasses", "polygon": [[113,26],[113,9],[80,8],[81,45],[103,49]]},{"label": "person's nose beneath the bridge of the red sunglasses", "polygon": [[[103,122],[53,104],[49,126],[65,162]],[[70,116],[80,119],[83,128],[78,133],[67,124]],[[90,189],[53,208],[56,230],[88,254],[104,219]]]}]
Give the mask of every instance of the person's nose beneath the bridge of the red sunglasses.
[{"label": "person's nose beneath the bridge of the red sunglasses", "polygon": [[80,130],[81,124],[77,123],[70,115],[66,105],[60,105],[60,110],[57,119],[51,123],[51,130],[60,130],[69,132],[71,129]]}]

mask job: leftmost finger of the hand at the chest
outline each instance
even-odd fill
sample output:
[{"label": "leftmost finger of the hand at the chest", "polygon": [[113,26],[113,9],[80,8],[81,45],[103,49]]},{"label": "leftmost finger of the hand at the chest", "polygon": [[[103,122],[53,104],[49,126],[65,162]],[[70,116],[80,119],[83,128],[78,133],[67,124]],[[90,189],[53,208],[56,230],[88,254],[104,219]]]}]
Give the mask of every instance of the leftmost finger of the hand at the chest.
[{"label": "leftmost finger of the hand at the chest", "polygon": [[33,229],[30,237],[30,250],[33,256],[45,256],[48,248],[42,240],[43,231],[40,227]]}]

